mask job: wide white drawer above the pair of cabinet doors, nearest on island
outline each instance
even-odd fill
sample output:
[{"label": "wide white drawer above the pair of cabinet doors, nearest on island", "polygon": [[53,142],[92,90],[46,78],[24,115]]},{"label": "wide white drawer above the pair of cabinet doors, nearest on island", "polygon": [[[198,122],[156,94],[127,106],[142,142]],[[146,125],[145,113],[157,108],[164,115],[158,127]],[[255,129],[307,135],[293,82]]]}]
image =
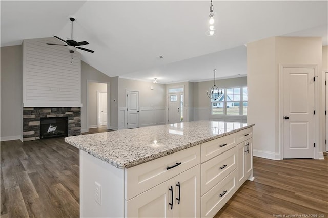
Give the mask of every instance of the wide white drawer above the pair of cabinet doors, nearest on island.
[{"label": "wide white drawer above the pair of cabinet doors, nearest on island", "polygon": [[[196,166],[200,163],[200,145],[190,147],[131,168],[126,173],[126,200]],[[176,166],[173,168],[172,167]]]}]

